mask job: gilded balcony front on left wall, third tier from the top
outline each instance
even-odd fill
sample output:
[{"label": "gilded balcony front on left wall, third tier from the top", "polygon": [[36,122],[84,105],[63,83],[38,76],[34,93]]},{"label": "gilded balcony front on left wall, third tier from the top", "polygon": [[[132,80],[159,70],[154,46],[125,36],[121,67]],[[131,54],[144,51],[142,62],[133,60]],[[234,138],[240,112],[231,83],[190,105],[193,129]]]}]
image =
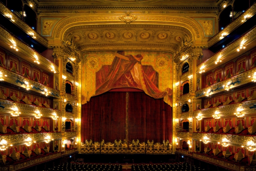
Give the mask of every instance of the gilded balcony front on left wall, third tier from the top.
[{"label": "gilded balcony front on left wall, third tier from the top", "polygon": [[23,87],[24,89],[26,89],[24,81],[27,81],[28,84],[31,85],[30,91],[42,93],[42,92],[45,92],[45,89],[46,89],[48,92],[50,92],[48,94],[48,96],[60,98],[59,90],[42,85],[42,84],[37,83],[31,79],[27,79],[25,77],[20,76],[19,74],[15,74],[15,73],[8,71],[4,68],[1,68],[0,71],[2,72],[3,75],[7,75],[7,77],[4,77],[4,81],[7,83],[11,83],[13,85],[17,85],[17,86],[20,86],[20,87]]}]

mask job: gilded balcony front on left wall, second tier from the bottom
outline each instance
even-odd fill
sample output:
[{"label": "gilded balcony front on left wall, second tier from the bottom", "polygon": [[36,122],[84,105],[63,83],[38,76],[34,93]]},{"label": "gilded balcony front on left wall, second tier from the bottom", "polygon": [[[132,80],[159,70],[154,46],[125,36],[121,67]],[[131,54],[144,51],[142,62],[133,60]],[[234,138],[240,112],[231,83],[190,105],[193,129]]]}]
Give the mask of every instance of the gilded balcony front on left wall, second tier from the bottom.
[{"label": "gilded balcony front on left wall, second tier from the bottom", "polygon": [[2,135],[1,140],[6,140],[12,145],[25,144],[25,140],[30,137],[34,142],[44,142],[46,136],[50,136],[51,139],[61,140],[61,132],[47,132],[47,133],[33,133],[33,134],[13,134],[13,135]]}]

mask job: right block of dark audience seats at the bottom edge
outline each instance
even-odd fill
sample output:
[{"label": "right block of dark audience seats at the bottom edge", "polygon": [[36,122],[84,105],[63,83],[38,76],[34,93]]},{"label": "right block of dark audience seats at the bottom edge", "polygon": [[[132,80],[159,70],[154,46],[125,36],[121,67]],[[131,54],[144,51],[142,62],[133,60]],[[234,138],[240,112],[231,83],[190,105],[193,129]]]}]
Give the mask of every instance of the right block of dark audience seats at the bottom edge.
[{"label": "right block of dark audience seats at the bottom edge", "polygon": [[132,165],[131,171],[204,171],[187,163]]}]

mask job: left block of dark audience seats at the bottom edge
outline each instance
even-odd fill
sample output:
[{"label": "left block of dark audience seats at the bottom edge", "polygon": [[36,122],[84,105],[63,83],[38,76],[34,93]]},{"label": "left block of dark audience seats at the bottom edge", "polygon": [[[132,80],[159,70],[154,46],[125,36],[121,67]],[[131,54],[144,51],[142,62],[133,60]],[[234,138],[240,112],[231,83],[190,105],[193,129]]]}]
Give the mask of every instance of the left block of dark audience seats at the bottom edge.
[{"label": "left block of dark audience seats at the bottom edge", "polygon": [[122,165],[67,163],[46,171],[122,171]]}]

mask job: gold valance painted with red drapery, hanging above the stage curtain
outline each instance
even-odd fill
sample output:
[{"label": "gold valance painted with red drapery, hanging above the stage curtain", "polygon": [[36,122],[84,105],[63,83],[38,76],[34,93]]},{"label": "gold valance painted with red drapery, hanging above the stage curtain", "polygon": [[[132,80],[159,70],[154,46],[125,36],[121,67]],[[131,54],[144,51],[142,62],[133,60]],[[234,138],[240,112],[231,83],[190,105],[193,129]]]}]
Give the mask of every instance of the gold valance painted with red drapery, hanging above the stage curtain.
[{"label": "gold valance painted with red drapery, hanging above the stage curtain", "polygon": [[138,88],[172,106],[171,53],[91,51],[82,56],[82,104],[113,88]]}]

